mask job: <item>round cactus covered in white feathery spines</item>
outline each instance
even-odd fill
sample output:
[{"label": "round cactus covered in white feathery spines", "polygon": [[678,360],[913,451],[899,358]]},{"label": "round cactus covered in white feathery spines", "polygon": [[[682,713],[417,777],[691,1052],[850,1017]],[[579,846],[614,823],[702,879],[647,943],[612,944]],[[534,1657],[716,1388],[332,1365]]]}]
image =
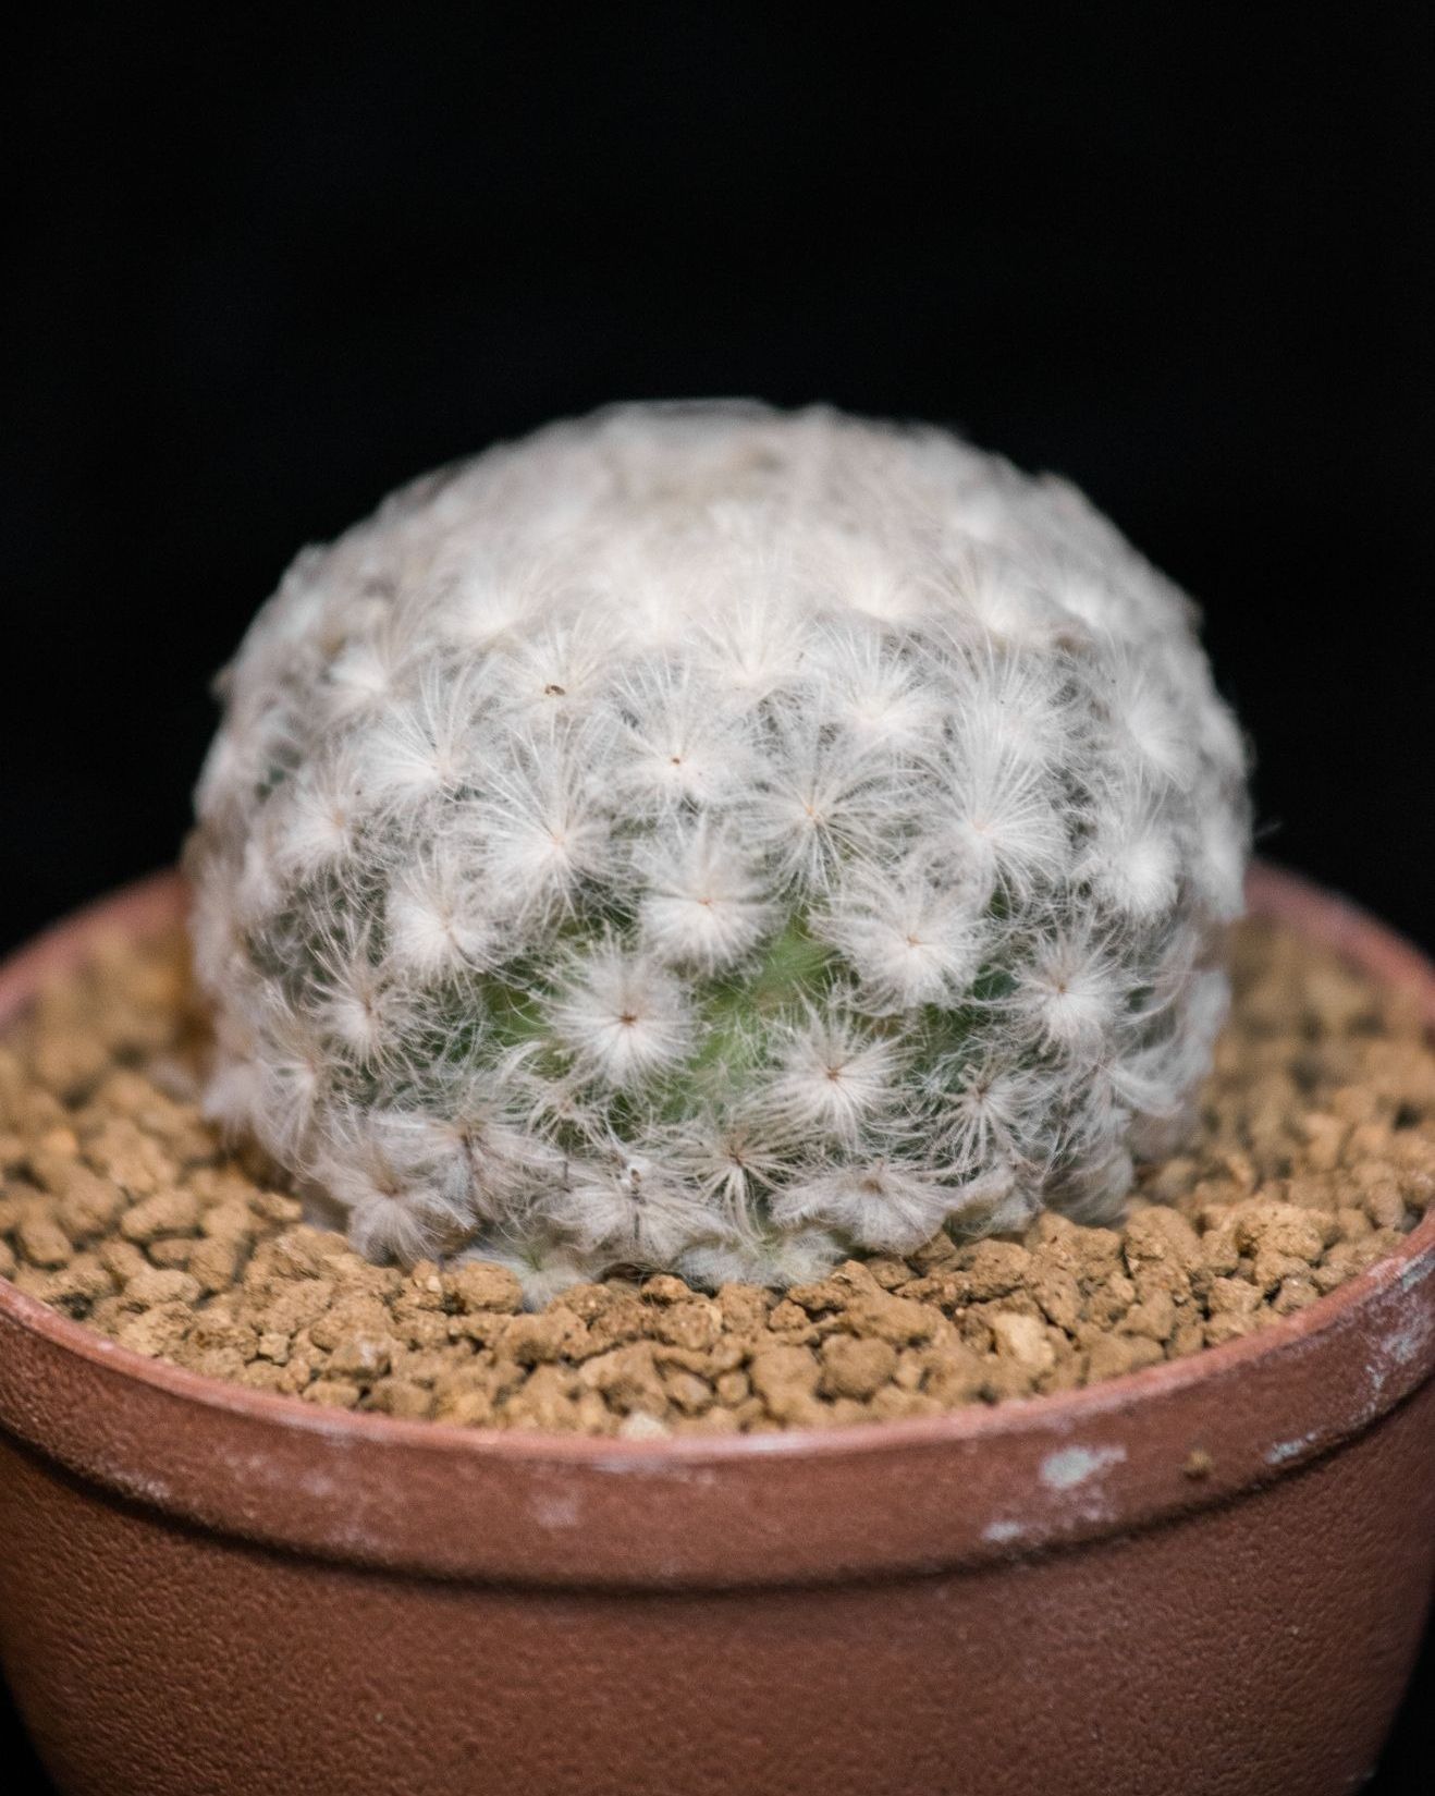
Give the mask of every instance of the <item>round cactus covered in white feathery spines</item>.
[{"label": "round cactus covered in white feathery spines", "polygon": [[370,1255],[781,1282],[1099,1218],[1189,1119],[1243,747],[1063,481],[611,409],[305,550],[223,697],[210,1105]]}]

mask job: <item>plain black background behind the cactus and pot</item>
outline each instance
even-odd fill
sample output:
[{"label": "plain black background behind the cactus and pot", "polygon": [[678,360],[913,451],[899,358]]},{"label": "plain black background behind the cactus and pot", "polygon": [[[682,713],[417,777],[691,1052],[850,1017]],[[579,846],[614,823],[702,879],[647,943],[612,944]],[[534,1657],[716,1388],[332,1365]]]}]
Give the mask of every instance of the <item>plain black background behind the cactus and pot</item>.
[{"label": "plain black background behind the cactus and pot", "polygon": [[1435,946],[1430,7],[50,9],[9,50],[0,948],[172,857],[302,542],[695,393],[1078,480],[1205,603],[1264,851]]}]

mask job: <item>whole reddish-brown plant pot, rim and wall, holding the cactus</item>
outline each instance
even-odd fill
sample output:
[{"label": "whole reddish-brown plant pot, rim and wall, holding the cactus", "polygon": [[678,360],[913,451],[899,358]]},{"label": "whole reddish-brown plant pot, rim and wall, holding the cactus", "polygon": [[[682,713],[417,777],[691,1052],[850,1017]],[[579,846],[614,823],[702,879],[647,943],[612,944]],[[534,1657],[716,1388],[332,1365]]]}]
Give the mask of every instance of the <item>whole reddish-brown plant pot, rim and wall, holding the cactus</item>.
[{"label": "whole reddish-brown plant pot, rim and wall, holding the cactus", "polygon": [[[1273,871],[1252,902],[1435,1022],[1360,912]],[[61,925],[0,1020],[180,905]],[[1430,1598],[1433,1367],[1435,1216],[1257,1336],[810,1437],[334,1413],[0,1284],[0,1651],[95,1796],[1345,1791]]]}]

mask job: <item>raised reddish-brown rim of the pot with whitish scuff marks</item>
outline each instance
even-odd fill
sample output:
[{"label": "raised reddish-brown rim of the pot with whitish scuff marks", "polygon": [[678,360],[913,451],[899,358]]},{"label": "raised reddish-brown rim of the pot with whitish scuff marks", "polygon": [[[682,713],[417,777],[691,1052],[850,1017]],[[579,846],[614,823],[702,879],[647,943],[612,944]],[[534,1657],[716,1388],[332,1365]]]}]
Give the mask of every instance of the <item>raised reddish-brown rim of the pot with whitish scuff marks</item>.
[{"label": "raised reddish-brown rim of the pot with whitish scuff marks", "polygon": [[[48,929],[0,966],[0,1034],[47,973],[83,961],[104,936],[142,938],[162,929],[181,914],[183,902],[183,880],[165,871]],[[1413,990],[1435,1027],[1435,966],[1349,900],[1279,867],[1257,866],[1248,880],[1248,903],[1254,914],[1291,923],[1383,982]],[[1302,1403],[1293,1397],[1291,1374],[1313,1358],[1320,1358],[1322,1367],[1316,1374],[1309,1365],[1316,1376],[1304,1378],[1304,1385],[1324,1395],[1315,1401],[1315,1390],[1307,1390]],[[47,1394],[54,1397],[50,1387],[61,1361],[74,1385],[68,1408],[45,1401]],[[1026,1554],[1061,1539],[1130,1527],[1137,1514],[1155,1519],[1205,1507],[1286,1475],[1370,1426],[1431,1370],[1435,1211],[1394,1254],[1307,1309],[1257,1334],[1083,1390],[991,1408],[972,1404],[912,1421],[657,1440],[463,1428],[321,1410],[298,1397],[255,1392],[147,1360],[0,1279],[0,1422],[72,1471],[241,1536],[429,1572],[519,1572],[541,1580],[582,1575],[594,1582],[647,1579],[665,1584],[708,1575],[744,1582],[788,1573],[821,1577],[858,1566],[920,1568],[950,1563],[954,1555]],[[92,1404],[113,1408],[117,1415],[126,1404],[133,1406],[133,1430],[97,1430],[97,1417],[86,1413]],[[1205,1457],[1214,1460],[1211,1467],[1194,1473],[1169,1442],[1155,1458],[1144,1451],[1140,1419],[1173,1406],[1180,1412],[1180,1439],[1189,1440],[1189,1449],[1205,1448]],[[212,1466],[207,1473],[199,1442],[163,1446],[176,1430],[194,1435],[199,1415],[210,1422],[203,1433],[242,1439],[251,1475],[248,1487],[226,1491]],[[1155,1433],[1166,1437],[1171,1430]],[[1245,1435],[1252,1439],[1237,1439]],[[422,1467],[426,1476],[447,1478],[451,1498],[456,1480],[485,1512],[505,1489],[512,1500],[523,1485],[523,1525],[501,1528],[485,1541],[476,1541],[463,1527],[440,1527],[445,1539],[435,1541],[433,1516],[406,1528],[399,1492],[384,1496],[381,1489],[384,1480],[402,1485],[402,1478],[393,1476],[395,1457],[413,1469]],[[938,1503],[905,1501],[909,1525],[889,1530],[885,1541],[875,1541],[871,1527],[855,1514],[851,1527],[817,1530],[823,1539],[806,1552],[801,1521],[794,1528],[787,1518],[778,1527],[776,1510],[783,1505],[796,1503],[801,1516],[808,1494],[803,1480],[823,1467],[826,1483],[851,1480],[858,1466],[866,1467],[866,1483],[873,1491],[885,1487],[891,1501],[896,1491],[911,1498],[911,1480],[929,1480],[938,1464],[955,1460],[966,1467],[961,1473],[966,1478],[993,1457],[1004,1460],[1006,1471],[991,1480],[975,1514],[968,1514],[968,1496],[975,1492],[963,1489],[955,1514],[946,1491]],[[257,1458],[271,1460],[266,1473],[259,1473]],[[354,1469],[370,1458],[374,1487],[359,1489]],[[295,1478],[302,1487],[307,1480],[300,1514],[275,1521],[277,1492],[287,1489],[293,1498]],[[713,1525],[731,1523],[735,1498],[753,1487],[749,1496],[756,1491],[762,1500],[754,1514],[744,1518],[749,1527],[738,1530],[751,1536],[747,1552],[735,1555],[729,1539],[724,1557],[711,1543],[695,1541],[690,1530],[704,1523],[691,1518],[659,1525],[652,1537],[629,1523],[620,1527],[621,1539],[607,1552],[594,1550],[591,1534],[605,1507],[602,1492],[616,1487],[627,1491],[629,1510],[634,1491],[652,1492],[654,1503],[638,1505],[650,1512],[648,1523],[657,1521],[665,1501],[672,1505],[675,1492],[702,1492],[697,1509],[711,1510]],[[465,1505],[454,1501],[451,1507],[462,1510]],[[857,1510],[867,1512],[869,1503],[860,1501]],[[463,1521],[463,1516],[454,1519]],[[476,1514],[469,1518],[476,1519]],[[891,1510],[885,1519],[891,1521]],[[781,1546],[776,1534],[783,1536]],[[532,1563],[533,1554],[519,1550],[521,1537],[530,1545],[533,1537],[542,1539],[546,1564]],[[568,1550],[555,1550],[564,1541]],[[523,1564],[515,1564],[515,1554]]]}]

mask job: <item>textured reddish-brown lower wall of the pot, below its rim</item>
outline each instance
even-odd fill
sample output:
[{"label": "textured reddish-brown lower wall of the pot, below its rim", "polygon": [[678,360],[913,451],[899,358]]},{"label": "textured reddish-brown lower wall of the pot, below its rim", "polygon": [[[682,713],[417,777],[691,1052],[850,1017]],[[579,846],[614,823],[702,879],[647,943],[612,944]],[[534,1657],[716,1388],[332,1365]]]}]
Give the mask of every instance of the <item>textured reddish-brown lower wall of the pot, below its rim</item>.
[{"label": "textured reddish-brown lower wall of the pot, below its rim", "polygon": [[726,1593],[320,1564],[5,1442],[5,1663],[86,1796],[1343,1791],[1419,1640],[1431,1440],[1426,1385],[1356,1446],[1166,1527]]}]

